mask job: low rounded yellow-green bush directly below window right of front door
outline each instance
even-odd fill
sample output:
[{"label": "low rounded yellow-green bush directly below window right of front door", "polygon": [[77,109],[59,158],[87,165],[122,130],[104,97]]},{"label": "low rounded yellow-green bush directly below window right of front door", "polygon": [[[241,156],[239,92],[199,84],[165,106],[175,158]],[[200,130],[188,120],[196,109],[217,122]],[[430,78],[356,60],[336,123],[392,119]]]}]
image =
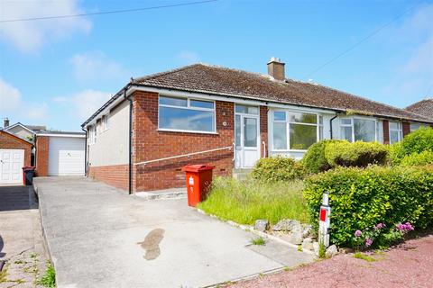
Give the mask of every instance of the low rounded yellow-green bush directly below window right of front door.
[{"label": "low rounded yellow-green bush directly below window right of front door", "polygon": [[264,182],[290,181],[304,175],[303,166],[290,157],[261,158],[252,172],[253,178]]}]

